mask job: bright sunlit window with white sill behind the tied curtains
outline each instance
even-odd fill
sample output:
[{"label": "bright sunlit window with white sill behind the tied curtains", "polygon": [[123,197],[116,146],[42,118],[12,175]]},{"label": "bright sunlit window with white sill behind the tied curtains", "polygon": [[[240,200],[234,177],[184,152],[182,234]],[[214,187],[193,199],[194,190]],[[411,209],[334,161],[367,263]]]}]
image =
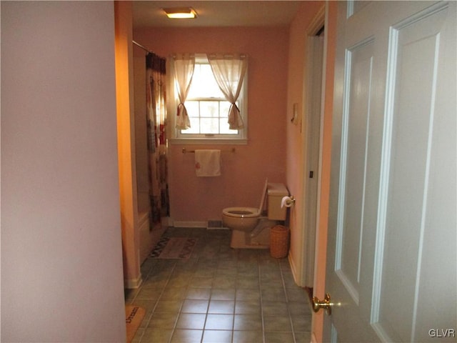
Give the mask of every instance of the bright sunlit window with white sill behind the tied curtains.
[{"label": "bright sunlit window with white sill behind the tied curtains", "polygon": [[240,96],[236,101],[244,127],[243,129],[230,129],[228,115],[231,103],[226,100],[221,89],[219,89],[206,55],[196,55],[194,76],[189,87],[189,94],[184,102],[191,127],[186,130],[176,129],[176,138],[188,139],[193,142],[195,139],[204,140],[202,143],[210,141],[214,143],[215,140],[221,140],[218,143],[229,140],[230,144],[233,144],[234,140],[246,141],[246,84],[247,76],[244,78]]}]

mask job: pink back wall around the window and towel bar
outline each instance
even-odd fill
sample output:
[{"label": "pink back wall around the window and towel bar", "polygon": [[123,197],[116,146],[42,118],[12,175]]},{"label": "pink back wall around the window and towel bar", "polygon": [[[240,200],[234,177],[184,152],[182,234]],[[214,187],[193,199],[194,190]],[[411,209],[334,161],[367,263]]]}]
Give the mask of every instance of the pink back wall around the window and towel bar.
[{"label": "pink back wall around the window and towel bar", "polygon": [[286,182],[288,28],[137,29],[134,39],[161,56],[174,52],[248,54],[248,144],[234,146],[235,154],[223,153],[222,176],[214,178],[196,177],[194,155],[182,154],[181,144],[169,144],[171,218],[206,221],[221,218],[224,207],[258,207],[266,177]]}]

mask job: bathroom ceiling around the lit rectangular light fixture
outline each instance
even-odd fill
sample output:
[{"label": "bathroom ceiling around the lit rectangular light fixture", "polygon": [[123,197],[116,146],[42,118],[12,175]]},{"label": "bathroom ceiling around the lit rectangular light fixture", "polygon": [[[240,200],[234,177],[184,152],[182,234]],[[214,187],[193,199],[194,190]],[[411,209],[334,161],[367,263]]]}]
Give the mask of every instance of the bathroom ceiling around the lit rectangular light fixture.
[{"label": "bathroom ceiling around the lit rectangular light fixture", "polygon": [[[133,1],[134,29],[141,27],[286,26],[303,1]],[[168,19],[162,9],[192,7],[196,19]]]}]

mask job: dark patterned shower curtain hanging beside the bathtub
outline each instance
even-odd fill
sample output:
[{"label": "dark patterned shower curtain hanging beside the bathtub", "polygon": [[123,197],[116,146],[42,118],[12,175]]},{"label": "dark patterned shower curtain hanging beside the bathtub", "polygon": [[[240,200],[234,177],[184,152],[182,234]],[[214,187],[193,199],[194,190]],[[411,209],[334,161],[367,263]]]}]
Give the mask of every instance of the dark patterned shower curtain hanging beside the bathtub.
[{"label": "dark patterned shower curtain hanging beside the bathtub", "polygon": [[149,154],[149,201],[152,230],[169,217],[169,189],[166,144],[166,60],[146,55],[146,115]]}]

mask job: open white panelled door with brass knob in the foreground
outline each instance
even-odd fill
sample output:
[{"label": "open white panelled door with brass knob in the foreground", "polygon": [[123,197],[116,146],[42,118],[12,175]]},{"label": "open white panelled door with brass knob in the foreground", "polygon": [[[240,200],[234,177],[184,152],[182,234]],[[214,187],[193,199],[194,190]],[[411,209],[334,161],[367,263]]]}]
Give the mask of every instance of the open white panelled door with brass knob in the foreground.
[{"label": "open white panelled door with brass knob in the foreground", "polygon": [[456,342],[456,2],[338,6],[324,339]]}]

